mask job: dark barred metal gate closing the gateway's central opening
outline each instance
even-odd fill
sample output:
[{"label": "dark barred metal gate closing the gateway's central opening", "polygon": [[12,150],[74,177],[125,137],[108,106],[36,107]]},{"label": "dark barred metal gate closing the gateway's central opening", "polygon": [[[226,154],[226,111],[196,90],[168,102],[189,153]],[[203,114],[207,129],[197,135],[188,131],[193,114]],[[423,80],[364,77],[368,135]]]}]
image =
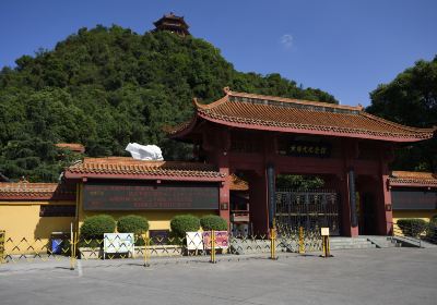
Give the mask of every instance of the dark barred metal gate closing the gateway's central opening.
[{"label": "dark barred metal gate closing the gateway's central opening", "polygon": [[335,191],[276,191],[276,227],[280,232],[297,231],[299,227],[317,232],[328,227],[331,235],[340,235],[339,205]]}]

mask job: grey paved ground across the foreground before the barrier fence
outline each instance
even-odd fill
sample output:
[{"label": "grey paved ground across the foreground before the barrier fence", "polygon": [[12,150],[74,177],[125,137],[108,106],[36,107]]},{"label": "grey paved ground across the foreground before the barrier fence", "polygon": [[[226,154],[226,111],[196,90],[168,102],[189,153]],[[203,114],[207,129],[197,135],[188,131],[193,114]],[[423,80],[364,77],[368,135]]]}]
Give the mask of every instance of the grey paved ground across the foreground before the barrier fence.
[{"label": "grey paved ground across the foreground before the barrier fence", "polygon": [[388,248],[152,265],[0,266],[0,304],[436,304],[437,251]]}]

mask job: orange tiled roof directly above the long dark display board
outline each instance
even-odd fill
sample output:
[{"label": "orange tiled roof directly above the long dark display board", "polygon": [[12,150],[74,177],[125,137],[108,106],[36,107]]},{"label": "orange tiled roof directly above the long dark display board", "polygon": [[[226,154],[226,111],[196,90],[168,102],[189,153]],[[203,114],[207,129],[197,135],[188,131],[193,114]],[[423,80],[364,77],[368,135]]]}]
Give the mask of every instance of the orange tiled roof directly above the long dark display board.
[{"label": "orange tiled roof directly above the long dark display board", "polygon": [[82,162],[66,169],[66,176],[79,174],[94,175],[138,175],[139,179],[154,179],[158,176],[216,179],[223,180],[225,174],[220,173],[212,164],[200,162],[179,161],[142,161],[131,157],[85,158]]}]

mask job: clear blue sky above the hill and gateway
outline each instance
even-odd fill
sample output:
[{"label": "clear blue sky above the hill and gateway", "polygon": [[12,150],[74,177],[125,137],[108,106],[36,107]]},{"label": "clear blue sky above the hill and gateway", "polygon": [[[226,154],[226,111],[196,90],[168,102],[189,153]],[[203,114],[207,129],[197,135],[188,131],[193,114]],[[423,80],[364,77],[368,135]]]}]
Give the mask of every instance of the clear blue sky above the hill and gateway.
[{"label": "clear blue sky above the hill and gateway", "polygon": [[83,26],[118,24],[142,34],[170,11],[237,70],[277,72],[344,105],[367,106],[378,84],[437,54],[435,0],[4,0],[0,66],[51,49]]}]

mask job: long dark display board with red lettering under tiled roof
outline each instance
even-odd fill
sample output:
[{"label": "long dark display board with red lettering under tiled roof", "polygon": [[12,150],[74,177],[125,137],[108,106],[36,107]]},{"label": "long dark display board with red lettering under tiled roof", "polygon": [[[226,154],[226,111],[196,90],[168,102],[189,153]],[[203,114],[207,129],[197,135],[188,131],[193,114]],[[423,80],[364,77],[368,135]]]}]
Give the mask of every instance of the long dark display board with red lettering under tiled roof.
[{"label": "long dark display board with red lettering under tiled roof", "polygon": [[83,209],[218,209],[218,183],[91,181],[83,187]]}]

